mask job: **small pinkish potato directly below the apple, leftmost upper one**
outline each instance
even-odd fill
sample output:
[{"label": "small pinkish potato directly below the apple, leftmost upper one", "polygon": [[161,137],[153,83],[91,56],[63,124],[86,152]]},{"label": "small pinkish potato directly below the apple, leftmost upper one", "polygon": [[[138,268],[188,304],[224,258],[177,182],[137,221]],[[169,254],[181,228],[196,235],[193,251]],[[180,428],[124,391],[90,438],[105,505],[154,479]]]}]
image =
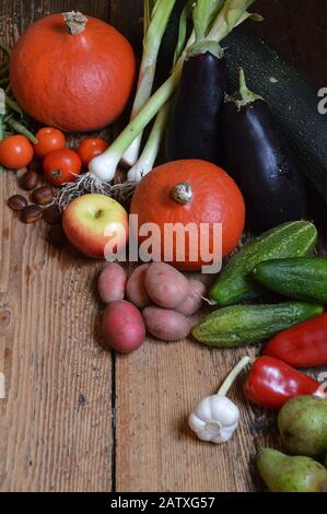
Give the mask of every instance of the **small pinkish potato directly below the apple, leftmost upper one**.
[{"label": "small pinkish potato directly below the apple, leftmost upper one", "polygon": [[109,262],[98,277],[97,289],[104,303],[116,302],[125,299],[126,272],[116,262]]}]

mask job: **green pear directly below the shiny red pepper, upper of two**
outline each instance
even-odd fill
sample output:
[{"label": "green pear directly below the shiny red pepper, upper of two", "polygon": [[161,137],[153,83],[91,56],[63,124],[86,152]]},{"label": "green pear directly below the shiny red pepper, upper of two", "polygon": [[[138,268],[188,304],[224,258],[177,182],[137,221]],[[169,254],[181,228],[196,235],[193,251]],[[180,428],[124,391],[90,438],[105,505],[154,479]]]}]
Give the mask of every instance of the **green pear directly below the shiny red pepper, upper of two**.
[{"label": "green pear directly below the shiny red pepper, upper of two", "polygon": [[283,449],[291,455],[327,454],[327,398],[297,396],[278,416]]}]

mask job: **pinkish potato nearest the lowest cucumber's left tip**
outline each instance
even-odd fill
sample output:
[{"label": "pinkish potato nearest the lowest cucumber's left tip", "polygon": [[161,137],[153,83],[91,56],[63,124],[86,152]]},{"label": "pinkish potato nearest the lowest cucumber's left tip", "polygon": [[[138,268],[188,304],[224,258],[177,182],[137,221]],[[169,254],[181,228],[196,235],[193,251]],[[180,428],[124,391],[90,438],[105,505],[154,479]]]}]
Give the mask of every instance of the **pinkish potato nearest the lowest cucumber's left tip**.
[{"label": "pinkish potato nearest the lowest cucumber's left tip", "polygon": [[162,341],[180,341],[191,330],[184,314],[160,307],[147,307],[143,311],[147,330]]}]

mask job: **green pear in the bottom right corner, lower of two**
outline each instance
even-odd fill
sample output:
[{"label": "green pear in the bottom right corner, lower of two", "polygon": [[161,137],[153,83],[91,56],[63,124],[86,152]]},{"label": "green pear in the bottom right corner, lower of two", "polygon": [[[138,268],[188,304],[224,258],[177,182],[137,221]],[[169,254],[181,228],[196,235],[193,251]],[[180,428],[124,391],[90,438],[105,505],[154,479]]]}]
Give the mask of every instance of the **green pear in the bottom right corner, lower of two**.
[{"label": "green pear in the bottom right corner, lower of two", "polygon": [[257,456],[257,467],[270,492],[327,492],[327,469],[313,458],[266,448]]}]

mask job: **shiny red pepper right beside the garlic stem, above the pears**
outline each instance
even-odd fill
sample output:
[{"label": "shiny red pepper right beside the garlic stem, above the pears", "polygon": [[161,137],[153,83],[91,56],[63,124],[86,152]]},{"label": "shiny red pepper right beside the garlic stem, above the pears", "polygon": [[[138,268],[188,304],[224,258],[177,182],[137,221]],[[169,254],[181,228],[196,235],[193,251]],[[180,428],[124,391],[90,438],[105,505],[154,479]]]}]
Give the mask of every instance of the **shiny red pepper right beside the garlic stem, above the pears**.
[{"label": "shiny red pepper right beside the garlic stem, above the pears", "polygon": [[295,396],[325,396],[317,381],[273,357],[260,357],[255,361],[244,394],[254,404],[275,410]]}]

